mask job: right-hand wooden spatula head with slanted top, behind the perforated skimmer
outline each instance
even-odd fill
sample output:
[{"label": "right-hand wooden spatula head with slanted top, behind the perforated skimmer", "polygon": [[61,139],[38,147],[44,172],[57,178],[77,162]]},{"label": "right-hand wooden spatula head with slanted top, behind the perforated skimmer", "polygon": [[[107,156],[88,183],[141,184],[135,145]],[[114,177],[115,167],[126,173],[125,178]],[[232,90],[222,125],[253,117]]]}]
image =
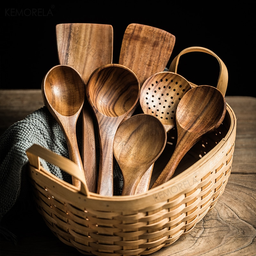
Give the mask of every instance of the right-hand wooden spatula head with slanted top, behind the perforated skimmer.
[{"label": "right-hand wooden spatula head with slanted top, behind the perforated skimmer", "polygon": [[140,87],[149,76],[164,71],[175,44],[175,36],[160,28],[132,23],[124,32],[119,64],[130,68]]}]

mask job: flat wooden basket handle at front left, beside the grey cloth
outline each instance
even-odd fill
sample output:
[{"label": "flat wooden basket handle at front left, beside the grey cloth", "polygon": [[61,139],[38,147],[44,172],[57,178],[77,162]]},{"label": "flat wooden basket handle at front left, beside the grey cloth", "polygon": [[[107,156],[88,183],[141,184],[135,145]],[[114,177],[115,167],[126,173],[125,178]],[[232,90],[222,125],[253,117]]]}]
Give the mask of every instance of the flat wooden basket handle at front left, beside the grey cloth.
[{"label": "flat wooden basket handle at front left, beside the grey cloth", "polygon": [[[61,170],[74,176],[76,179],[81,181],[80,192],[85,196],[89,195],[89,191],[83,173],[80,171],[78,165],[71,161],[70,159],[64,156],[60,156],[54,153],[53,151],[37,144],[33,144],[30,148],[28,148],[26,150],[26,154],[28,156],[28,161],[30,165],[34,166],[38,170],[43,171],[46,174],[48,174],[48,172],[44,168],[41,168],[39,157],[50,164],[58,166]],[[58,178],[56,177],[56,179]]]}]

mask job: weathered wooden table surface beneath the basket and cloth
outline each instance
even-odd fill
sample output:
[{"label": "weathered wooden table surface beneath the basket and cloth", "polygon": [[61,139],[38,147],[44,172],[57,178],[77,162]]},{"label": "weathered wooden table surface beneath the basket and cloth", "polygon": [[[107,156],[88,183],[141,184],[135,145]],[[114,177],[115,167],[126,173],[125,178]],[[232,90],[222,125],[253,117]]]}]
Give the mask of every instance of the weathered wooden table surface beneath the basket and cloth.
[{"label": "weathered wooden table surface beneath the basket and cloth", "polygon": [[[236,114],[237,130],[225,191],[189,234],[151,256],[256,255],[256,98],[226,96],[226,101]],[[0,90],[0,134],[43,105],[41,90]],[[37,212],[12,216],[6,218],[12,218],[17,244],[1,237],[1,256],[83,255],[55,237]]]}]

